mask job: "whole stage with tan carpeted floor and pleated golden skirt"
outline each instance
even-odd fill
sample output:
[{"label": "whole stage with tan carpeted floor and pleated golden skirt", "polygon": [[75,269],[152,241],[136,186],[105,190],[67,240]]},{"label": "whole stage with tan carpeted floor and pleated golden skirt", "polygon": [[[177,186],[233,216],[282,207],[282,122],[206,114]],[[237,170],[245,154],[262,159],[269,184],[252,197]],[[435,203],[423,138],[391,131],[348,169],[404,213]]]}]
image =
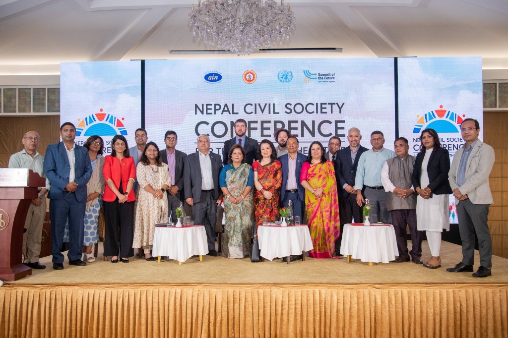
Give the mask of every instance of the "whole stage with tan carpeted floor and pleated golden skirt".
[{"label": "whole stage with tan carpeted floor and pleated golden skirt", "polygon": [[435,270],[210,256],[111,264],[100,244],[87,266],[66,258],[55,271],[45,257],[46,269],[4,283],[0,336],[508,337],[508,259],[493,256],[483,279],[446,271],[460,259],[460,246],[442,242]]}]

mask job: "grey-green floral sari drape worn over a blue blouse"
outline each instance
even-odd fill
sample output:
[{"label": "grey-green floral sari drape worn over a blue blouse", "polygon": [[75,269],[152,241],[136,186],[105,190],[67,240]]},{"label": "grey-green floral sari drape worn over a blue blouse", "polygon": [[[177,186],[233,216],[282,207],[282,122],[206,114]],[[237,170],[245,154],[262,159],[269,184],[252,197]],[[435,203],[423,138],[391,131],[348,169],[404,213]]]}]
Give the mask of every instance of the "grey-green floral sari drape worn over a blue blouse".
[{"label": "grey-green floral sari drape worn over a blue blouse", "polygon": [[[226,186],[233,196],[239,196],[248,185],[250,165],[243,163],[236,170],[226,172]],[[222,255],[228,258],[243,258],[249,254],[252,244],[252,190],[245,198],[232,203],[224,200],[225,226]]]}]

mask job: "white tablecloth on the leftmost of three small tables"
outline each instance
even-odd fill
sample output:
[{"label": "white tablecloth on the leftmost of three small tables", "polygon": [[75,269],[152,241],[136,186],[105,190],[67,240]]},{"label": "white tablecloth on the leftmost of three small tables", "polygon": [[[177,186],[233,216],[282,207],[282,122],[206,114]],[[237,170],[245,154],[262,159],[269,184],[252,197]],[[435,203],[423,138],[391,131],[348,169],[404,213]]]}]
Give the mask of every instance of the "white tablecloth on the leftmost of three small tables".
[{"label": "white tablecloth on the leftmost of three small tables", "polygon": [[166,227],[156,226],[153,235],[153,256],[168,256],[179,262],[193,255],[206,255],[208,241],[203,225]]}]

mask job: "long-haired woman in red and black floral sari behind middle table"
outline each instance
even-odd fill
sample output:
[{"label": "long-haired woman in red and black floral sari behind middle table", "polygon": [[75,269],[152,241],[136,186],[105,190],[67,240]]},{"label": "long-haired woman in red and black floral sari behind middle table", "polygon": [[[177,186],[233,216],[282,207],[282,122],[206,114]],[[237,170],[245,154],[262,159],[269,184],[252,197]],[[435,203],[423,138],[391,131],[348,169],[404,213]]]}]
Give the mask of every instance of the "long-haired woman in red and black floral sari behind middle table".
[{"label": "long-haired woman in red and black floral sari behind middle table", "polygon": [[282,166],[277,160],[277,151],[269,140],[261,141],[258,149],[261,160],[252,163],[254,172],[254,214],[256,224],[263,223],[263,216],[268,216],[268,222],[279,219],[280,185],[282,182]]}]

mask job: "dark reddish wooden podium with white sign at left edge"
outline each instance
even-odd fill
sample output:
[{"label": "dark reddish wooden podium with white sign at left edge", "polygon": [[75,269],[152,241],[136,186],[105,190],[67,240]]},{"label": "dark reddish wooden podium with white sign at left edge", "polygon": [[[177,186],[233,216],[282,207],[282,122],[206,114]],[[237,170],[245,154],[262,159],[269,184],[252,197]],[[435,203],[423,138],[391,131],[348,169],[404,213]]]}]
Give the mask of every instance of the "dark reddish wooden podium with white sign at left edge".
[{"label": "dark reddish wooden podium with white sign at left edge", "polygon": [[22,264],[23,230],[31,200],[46,179],[28,169],[0,168],[0,280],[16,281],[31,275]]}]

